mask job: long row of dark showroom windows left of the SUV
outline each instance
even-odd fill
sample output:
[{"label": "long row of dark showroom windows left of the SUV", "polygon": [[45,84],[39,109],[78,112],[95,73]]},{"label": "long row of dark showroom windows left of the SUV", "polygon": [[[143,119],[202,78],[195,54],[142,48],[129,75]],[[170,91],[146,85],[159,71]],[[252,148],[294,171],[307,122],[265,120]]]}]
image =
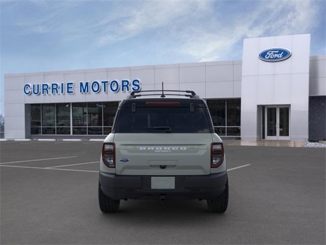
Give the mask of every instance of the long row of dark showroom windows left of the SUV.
[{"label": "long row of dark showroom windows left of the SUV", "polygon": [[31,105],[31,134],[107,135],[119,102]]}]

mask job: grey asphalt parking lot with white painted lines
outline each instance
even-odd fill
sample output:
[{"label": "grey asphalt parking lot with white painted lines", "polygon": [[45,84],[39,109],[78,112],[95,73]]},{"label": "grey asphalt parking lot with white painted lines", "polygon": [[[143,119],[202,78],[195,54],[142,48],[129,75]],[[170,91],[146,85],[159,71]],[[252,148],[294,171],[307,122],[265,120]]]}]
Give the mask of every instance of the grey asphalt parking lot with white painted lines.
[{"label": "grey asphalt parking lot with white painted lines", "polygon": [[0,147],[1,244],[325,244],[325,149],[226,146],[224,214],[197,200],[128,200],[103,214],[101,142]]}]

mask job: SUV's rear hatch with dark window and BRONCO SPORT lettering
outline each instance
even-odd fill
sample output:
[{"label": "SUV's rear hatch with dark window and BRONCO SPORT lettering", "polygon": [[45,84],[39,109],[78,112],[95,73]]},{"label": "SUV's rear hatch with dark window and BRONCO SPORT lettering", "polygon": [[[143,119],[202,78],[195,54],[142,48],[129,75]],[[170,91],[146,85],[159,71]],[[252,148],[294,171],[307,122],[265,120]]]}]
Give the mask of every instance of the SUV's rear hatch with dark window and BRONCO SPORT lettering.
[{"label": "SUV's rear hatch with dark window and BRONCO SPORT lettering", "polygon": [[213,129],[202,100],[127,101],[114,127],[117,175],[210,174]]}]

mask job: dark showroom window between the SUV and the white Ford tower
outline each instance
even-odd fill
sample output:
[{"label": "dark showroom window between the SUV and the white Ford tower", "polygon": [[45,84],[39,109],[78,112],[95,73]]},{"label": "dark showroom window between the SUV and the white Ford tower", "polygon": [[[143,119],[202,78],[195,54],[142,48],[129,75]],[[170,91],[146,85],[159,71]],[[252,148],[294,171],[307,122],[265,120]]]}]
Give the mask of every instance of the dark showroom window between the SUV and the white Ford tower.
[{"label": "dark showroom window between the SUV and the white Ford tower", "polygon": [[220,136],[240,136],[240,99],[206,100],[215,132]]}]

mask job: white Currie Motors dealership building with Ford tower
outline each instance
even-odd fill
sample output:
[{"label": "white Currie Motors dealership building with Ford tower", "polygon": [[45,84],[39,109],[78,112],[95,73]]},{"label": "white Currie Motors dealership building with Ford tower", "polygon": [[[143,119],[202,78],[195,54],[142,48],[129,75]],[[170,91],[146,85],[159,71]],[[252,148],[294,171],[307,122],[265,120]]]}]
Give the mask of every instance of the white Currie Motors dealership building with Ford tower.
[{"label": "white Currie Motors dealership building with Ford tower", "polygon": [[221,137],[326,139],[326,56],[310,56],[310,34],[244,39],[242,60],[6,74],[5,138],[104,138],[130,91],[162,82],[206,100]]}]

